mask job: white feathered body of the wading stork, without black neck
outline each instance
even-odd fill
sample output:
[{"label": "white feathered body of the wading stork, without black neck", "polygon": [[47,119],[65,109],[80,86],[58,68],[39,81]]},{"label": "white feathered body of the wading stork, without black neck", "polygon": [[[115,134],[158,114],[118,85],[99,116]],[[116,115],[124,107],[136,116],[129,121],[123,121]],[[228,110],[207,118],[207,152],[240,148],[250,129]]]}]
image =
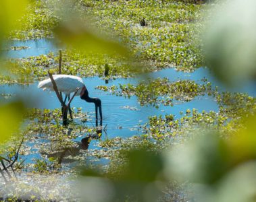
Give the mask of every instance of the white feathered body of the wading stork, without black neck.
[{"label": "white feathered body of the wading stork, without black neck", "polygon": [[[58,74],[53,75],[53,79],[57,85],[57,88],[60,92],[63,92],[63,94],[66,94],[68,96],[69,94],[76,91],[76,88],[80,88],[76,94],[76,96],[80,96],[80,92],[82,90],[82,87],[84,86],[84,82],[80,77],[74,76],[74,75],[64,75],[64,74]],[[53,83],[51,83],[51,79],[45,79],[43,81],[39,82],[38,88],[43,88],[43,90],[51,90],[53,91]]]}]

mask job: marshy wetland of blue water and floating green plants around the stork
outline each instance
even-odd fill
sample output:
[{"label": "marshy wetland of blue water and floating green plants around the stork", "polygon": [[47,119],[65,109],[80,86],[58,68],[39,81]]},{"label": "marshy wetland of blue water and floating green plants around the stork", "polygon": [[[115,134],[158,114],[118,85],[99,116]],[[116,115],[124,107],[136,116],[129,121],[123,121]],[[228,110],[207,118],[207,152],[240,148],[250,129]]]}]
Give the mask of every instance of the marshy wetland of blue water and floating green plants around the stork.
[{"label": "marshy wetland of blue water and floating green plants around the stork", "polygon": [[[200,30],[211,3],[195,2],[72,1],[74,11],[86,11],[83,20],[90,16],[93,26],[130,48],[128,58],[60,44],[55,28],[64,17],[57,1],[28,4],[18,20],[22,27],[11,30],[1,49],[6,67],[0,102],[9,106],[19,100],[26,112],[19,132],[0,149],[13,160],[24,139],[17,178],[9,184],[0,178],[0,199],[86,201],[72,187],[79,187],[77,178],[86,176],[87,168],[101,170],[88,176],[116,178],[132,149],[165,151],[193,139],[198,130],[212,129],[225,138],[238,133],[243,118],[255,113],[256,82],[229,88],[205,67]],[[55,92],[37,88],[48,71],[57,73],[59,50],[61,73],[82,77],[89,95],[101,99],[102,126],[95,122],[95,106],[79,96],[71,103],[73,120],[68,117],[63,126]],[[162,201],[193,200],[186,185],[172,186],[174,192]]]}]

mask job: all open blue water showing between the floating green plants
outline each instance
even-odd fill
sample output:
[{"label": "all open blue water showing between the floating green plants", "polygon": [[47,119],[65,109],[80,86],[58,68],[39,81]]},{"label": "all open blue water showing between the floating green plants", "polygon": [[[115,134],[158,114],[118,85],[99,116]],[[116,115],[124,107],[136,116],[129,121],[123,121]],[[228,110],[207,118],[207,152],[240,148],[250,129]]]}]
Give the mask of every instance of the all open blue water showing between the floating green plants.
[{"label": "all open blue water showing between the floating green plants", "polygon": [[[28,41],[15,41],[11,42],[9,46],[30,46],[29,49],[25,50],[7,50],[7,57],[28,57],[36,56],[41,54],[47,54],[50,51],[56,51],[52,40],[28,40]],[[161,71],[156,71],[152,73],[145,73],[143,75],[138,75],[134,79],[116,79],[109,81],[105,84],[105,81],[99,79],[99,77],[88,77],[84,78],[84,83],[88,89],[89,95],[91,97],[99,97],[102,100],[103,108],[103,127],[107,125],[107,137],[131,137],[132,135],[140,135],[141,132],[138,131],[138,126],[144,125],[148,121],[148,116],[153,115],[165,115],[174,114],[175,119],[180,118],[182,115],[180,112],[186,112],[188,108],[197,108],[199,112],[205,110],[209,112],[210,110],[218,111],[218,106],[215,100],[211,96],[197,96],[194,100],[190,102],[174,102],[174,106],[163,106],[160,105],[159,108],[153,106],[140,106],[137,102],[136,96],[132,96],[130,99],[124,98],[122,96],[112,95],[109,92],[103,92],[101,90],[95,89],[95,86],[105,85],[119,86],[119,83],[132,83],[136,84],[141,79],[157,77],[167,77],[170,81],[178,81],[180,79],[191,79],[195,80],[197,83],[203,83],[203,79],[210,81],[213,86],[219,86],[221,91],[234,91],[232,89],[226,88],[222,83],[217,81],[213,77],[213,73],[209,72],[209,69],[199,68],[193,73],[184,73],[182,71],[176,71],[175,69],[163,69]],[[36,108],[60,108],[59,100],[55,95],[55,92],[43,91],[37,88],[38,83],[33,83],[28,86],[12,85],[0,86],[0,94],[16,94],[20,96],[25,103],[30,107]],[[256,96],[256,84],[253,82],[247,83],[246,86],[241,88],[236,88],[236,92],[247,92],[251,96]],[[8,102],[5,101],[5,102]],[[130,110],[126,106],[134,110]],[[79,96],[76,96],[72,101],[72,107],[82,107],[82,111],[88,112],[91,121],[88,121],[86,125],[95,125],[95,106],[94,104],[87,103],[81,100]],[[86,134],[84,134],[86,136]],[[103,135],[103,137],[105,136]],[[80,141],[82,137],[76,139]],[[43,142],[43,141],[42,141]],[[40,141],[39,141],[40,143]],[[89,145],[90,148],[97,148],[94,146],[95,141],[92,141]],[[30,143],[27,143],[31,146]],[[34,150],[30,156],[26,158],[39,158],[38,150]],[[31,160],[28,160],[30,162]]]}]

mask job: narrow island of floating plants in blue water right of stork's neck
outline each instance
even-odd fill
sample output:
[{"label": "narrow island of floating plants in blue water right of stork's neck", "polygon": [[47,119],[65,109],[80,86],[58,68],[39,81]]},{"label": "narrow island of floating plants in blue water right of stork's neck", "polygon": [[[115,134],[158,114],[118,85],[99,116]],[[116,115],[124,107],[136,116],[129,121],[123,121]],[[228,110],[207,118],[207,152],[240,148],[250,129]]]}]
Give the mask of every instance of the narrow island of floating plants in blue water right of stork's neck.
[{"label": "narrow island of floating plants in blue water right of stork's neck", "polygon": [[167,78],[140,81],[137,86],[128,83],[120,84],[119,88],[117,86],[97,86],[96,88],[127,98],[137,96],[138,102],[140,102],[141,105],[152,104],[156,107],[159,103],[172,106],[174,100],[188,102],[193,100],[196,96],[204,94],[211,95],[215,92],[209,82],[204,84],[198,84],[191,80],[170,82]]}]

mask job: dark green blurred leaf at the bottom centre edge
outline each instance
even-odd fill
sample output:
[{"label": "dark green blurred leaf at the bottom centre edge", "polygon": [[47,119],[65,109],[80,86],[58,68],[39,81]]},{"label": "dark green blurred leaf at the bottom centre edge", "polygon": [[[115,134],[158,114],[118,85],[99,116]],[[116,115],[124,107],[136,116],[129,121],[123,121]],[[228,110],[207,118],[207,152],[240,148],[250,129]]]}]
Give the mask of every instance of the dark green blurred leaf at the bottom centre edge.
[{"label": "dark green blurred leaf at the bottom centre edge", "polygon": [[114,180],[116,198],[125,201],[130,196],[132,201],[157,201],[161,193],[155,182],[163,182],[161,155],[145,149],[128,151],[128,164],[122,176]]}]

